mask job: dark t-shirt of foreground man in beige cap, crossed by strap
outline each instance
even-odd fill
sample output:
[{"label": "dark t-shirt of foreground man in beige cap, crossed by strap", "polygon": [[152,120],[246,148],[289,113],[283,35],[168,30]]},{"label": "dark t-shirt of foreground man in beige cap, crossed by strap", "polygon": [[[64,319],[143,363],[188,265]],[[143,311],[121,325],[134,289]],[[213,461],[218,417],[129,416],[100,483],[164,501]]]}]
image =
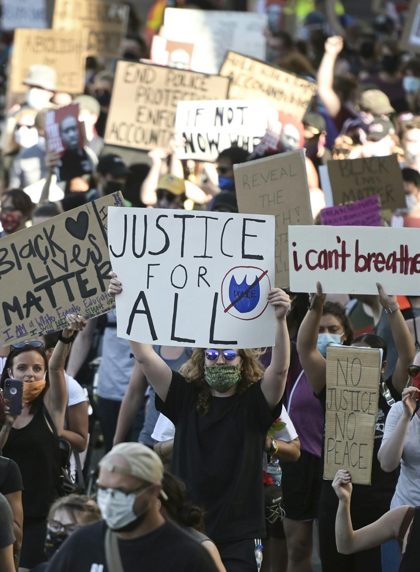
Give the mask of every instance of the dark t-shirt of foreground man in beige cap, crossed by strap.
[{"label": "dark t-shirt of foreground man in beige cap, crossed by strap", "polygon": [[[82,526],[57,550],[47,572],[113,572],[106,566],[105,522]],[[126,572],[217,572],[207,550],[179,527],[164,525],[132,540],[118,539]]]}]

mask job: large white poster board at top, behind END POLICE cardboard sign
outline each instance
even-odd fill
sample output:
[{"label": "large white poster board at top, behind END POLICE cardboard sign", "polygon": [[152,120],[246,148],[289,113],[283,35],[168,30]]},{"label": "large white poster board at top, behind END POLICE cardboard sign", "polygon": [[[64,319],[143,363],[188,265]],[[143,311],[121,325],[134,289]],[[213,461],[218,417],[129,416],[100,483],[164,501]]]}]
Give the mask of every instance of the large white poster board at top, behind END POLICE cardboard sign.
[{"label": "large white poster board at top, behind END POLICE cardboard sign", "polygon": [[192,70],[218,74],[227,50],[266,59],[267,25],[267,14],[167,8],[163,35],[194,44]]}]

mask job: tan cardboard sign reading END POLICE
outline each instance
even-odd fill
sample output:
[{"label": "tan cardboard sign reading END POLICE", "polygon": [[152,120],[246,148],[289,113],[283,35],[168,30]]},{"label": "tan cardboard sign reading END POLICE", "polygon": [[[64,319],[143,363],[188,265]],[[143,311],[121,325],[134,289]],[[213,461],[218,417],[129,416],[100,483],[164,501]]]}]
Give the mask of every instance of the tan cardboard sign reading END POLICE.
[{"label": "tan cardboard sign reading END POLICE", "polygon": [[228,88],[225,77],[119,61],[105,143],[144,150],[166,147],[179,101],[225,99]]}]

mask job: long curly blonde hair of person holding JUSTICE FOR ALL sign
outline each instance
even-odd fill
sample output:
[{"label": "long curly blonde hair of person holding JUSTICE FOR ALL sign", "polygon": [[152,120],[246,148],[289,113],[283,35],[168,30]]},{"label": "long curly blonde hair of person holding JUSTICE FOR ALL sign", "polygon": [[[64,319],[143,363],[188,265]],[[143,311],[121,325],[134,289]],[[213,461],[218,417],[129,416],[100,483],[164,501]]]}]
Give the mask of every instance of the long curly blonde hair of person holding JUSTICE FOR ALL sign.
[{"label": "long curly blonde hair of person holding JUSTICE FOR ALL sign", "polygon": [[[241,366],[241,379],[237,383],[237,395],[243,394],[249,386],[263,377],[264,366],[260,362],[263,349],[239,349],[238,355],[243,359]],[[199,389],[197,411],[205,414],[210,409],[211,387],[204,379],[205,349],[197,348],[192,352],[191,358],[180,368],[180,374],[189,383]]]}]

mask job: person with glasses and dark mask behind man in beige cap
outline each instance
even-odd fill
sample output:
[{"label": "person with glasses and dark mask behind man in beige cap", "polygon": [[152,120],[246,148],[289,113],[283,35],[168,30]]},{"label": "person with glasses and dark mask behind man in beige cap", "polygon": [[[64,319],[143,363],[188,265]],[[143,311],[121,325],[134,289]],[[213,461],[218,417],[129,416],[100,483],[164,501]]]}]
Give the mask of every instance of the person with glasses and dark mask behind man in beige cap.
[{"label": "person with glasses and dark mask behind man in beige cap", "polygon": [[[91,522],[102,520],[101,511],[96,502],[88,496],[71,494],[62,496],[50,508],[45,537],[45,555],[50,560],[62,543],[76,530]],[[47,562],[41,562],[31,572],[45,572]]]}]

